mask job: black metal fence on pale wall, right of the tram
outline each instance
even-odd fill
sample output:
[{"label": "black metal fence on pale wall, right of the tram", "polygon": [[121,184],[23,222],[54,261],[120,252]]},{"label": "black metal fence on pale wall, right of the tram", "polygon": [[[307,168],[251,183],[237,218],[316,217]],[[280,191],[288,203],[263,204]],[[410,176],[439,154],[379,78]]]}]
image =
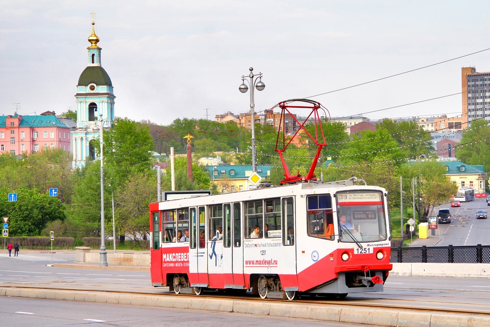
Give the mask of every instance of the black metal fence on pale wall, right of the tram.
[{"label": "black metal fence on pale wall, right of the tram", "polygon": [[490,263],[490,245],[392,248],[390,262]]}]

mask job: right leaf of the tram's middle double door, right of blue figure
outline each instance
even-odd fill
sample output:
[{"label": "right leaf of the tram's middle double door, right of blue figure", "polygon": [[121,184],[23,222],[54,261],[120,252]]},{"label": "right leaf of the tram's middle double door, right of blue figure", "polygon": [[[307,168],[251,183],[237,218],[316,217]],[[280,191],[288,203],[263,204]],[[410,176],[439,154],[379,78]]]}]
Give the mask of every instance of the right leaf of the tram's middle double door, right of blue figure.
[{"label": "right leaf of the tram's middle double door, right of blue figure", "polygon": [[242,204],[240,202],[233,204],[233,223],[231,249],[233,252],[233,284],[235,288],[245,286],[244,279],[244,251],[242,247]]}]

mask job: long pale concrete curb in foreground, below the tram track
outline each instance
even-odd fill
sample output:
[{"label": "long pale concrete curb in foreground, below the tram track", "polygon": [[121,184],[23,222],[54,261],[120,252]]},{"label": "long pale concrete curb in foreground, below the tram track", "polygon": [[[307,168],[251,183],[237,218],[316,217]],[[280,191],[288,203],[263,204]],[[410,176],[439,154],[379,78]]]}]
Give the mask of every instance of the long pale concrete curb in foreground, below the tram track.
[{"label": "long pale concrete curb in foreground, below the tram track", "polygon": [[278,303],[275,301],[244,301],[207,299],[196,296],[153,296],[127,293],[21,289],[0,287],[0,296],[53,299],[92,303],[130,304],[180,309],[213,310],[269,315],[274,317],[303,318],[350,324],[370,324],[392,327],[481,327],[490,326],[490,317],[484,315],[459,315],[430,313],[415,310],[395,311],[389,309],[356,308],[341,304]]}]

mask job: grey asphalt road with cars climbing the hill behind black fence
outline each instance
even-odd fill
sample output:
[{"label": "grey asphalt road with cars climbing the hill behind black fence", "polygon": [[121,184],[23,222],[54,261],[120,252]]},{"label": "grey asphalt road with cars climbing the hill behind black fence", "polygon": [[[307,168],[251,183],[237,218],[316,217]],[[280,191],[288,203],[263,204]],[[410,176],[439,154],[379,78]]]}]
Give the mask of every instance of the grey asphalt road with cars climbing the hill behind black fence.
[{"label": "grey asphalt road with cars climbing the hill behind black fence", "polygon": [[450,210],[451,223],[439,224],[441,241],[437,243],[437,246],[490,244],[490,238],[488,237],[490,234],[490,219],[476,219],[477,210],[490,210],[485,199],[462,202],[459,208],[451,208],[450,204],[436,207],[436,214],[441,208]]}]

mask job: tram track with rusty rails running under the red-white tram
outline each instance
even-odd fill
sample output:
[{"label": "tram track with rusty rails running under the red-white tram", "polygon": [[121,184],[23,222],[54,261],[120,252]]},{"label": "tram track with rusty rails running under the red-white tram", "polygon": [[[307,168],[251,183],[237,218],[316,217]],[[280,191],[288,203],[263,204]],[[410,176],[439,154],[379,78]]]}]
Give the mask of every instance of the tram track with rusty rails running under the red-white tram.
[{"label": "tram track with rusty rails running under the red-white tram", "polygon": [[[11,291],[18,291],[16,295],[13,295]],[[51,296],[43,295],[46,292],[51,292]],[[34,294],[41,294],[41,296],[34,296]],[[54,293],[54,294],[52,294]],[[56,294],[58,293],[58,295]],[[60,294],[66,293],[70,294],[68,297],[63,297]],[[59,287],[57,285],[42,285],[42,284],[1,284],[0,285],[0,295],[4,296],[20,296],[28,298],[48,298],[48,299],[60,299],[69,300],[73,297],[73,301],[76,300],[76,294],[84,294],[83,301],[87,301],[87,298],[99,298],[99,300],[105,295],[107,299],[106,303],[118,303],[114,301],[114,296],[137,296],[146,297],[148,301],[144,305],[149,306],[160,306],[153,305],[160,302],[169,301],[176,299],[179,302],[185,301],[206,301],[206,300],[217,300],[217,301],[229,301],[232,303],[247,302],[250,304],[286,304],[294,306],[323,306],[328,308],[339,308],[348,310],[352,309],[368,309],[368,310],[389,310],[389,311],[417,311],[424,313],[434,313],[434,314],[456,314],[456,315],[485,315],[490,317],[490,304],[461,304],[461,303],[444,303],[438,301],[427,301],[426,298],[423,301],[418,300],[397,300],[397,299],[383,299],[383,298],[361,298],[361,297],[348,297],[345,299],[331,300],[327,297],[311,297],[308,295],[303,295],[300,299],[295,301],[281,300],[281,299],[260,299],[259,297],[246,294],[245,296],[230,296],[223,294],[218,291],[207,291],[200,296],[180,294],[176,295],[173,292],[167,291],[166,288],[155,289],[155,292],[148,292],[147,290],[138,289],[113,289],[110,287],[98,287],[96,290],[89,288],[89,286],[84,285],[67,285],[64,287]],[[79,298],[80,299],[80,298]],[[90,301],[87,301],[90,302]],[[104,302],[102,300],[97,302]],[[154,303],[153,303],[154,302]],[[123,304],[128,304],[123,301]],[[132,304],[132,303],[130,303]],[[136,304],[137,305],[137,304]],[[194,307],[192,307],[194,308]],[[232,310],[233,311],[233,310]],[[490,318],[489,318],[490,319]]]}]

